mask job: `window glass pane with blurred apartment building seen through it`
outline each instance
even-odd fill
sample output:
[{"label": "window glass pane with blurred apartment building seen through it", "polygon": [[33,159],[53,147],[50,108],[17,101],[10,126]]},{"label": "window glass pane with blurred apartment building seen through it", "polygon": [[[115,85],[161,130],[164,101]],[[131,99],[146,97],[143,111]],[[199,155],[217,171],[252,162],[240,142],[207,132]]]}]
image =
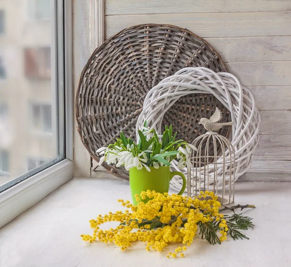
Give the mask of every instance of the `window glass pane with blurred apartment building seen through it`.
[{"label": "window glass pane with blurred apartment building seen through it", "polygon": [[65,156],[62,3],[0,0],[0,192]]}]

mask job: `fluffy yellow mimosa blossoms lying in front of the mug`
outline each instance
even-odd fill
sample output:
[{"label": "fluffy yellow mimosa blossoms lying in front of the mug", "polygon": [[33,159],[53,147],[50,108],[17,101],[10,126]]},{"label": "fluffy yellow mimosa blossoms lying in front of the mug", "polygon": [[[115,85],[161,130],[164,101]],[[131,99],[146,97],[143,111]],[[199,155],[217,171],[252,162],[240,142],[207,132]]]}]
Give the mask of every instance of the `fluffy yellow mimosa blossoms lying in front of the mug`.
[{"label": "fluffy yellow mimosa blossoms lying in front of the mug", "polygon": [[[209,196],[209,200],[205,196]],[[188,198],[176,194],[158,193],[147,190],[135,195],[137,201],[149,198],[147,203],[139,202],[137,206],[129,201],[118,200],[128,210],[109,212],[99,215],[96,220],[90,220],[94,229],[93,235],[81,235],[86,242],[96,239],[107,243],[115,243],[126,250],[136,241],[146,242],[146,250],[163,251],[169,244],[181,244],[174,253],[167,257],[184,257],[182,251],[190,246],[197,234],[199,224],[215,221],[219,224],[220,241],[226,239],[228,230],[226,220],[219,214],[221,206],[213,192],[201,192],[201,198]],[[117,221],[119,225],[110,230],[101,230],[99,226],[109,221]],[[138,230],[136,230],[138,229]]]}]

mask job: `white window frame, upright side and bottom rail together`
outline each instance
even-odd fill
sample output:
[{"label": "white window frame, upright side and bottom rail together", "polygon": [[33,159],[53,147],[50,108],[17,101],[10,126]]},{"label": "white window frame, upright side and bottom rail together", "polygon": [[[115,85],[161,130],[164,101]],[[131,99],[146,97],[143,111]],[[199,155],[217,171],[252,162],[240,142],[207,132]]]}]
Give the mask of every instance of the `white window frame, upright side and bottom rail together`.
[{"label": "white window frame, upright side and bottom rail together", "polygon": [[[59,4],[60,0],[58,0]],[[65,159],[0,193],[0,228],[73,178],[72,1],[64,0]],[[55,10],[51,1],[51,11]],[[57,16],[63,16],[59,13]],[[55,21],[51,21],[55,30]],[[52,51],[51,51],[52,53]],[[53,53],[52,53],[53,55]],[[53,62],[52,62],[53,65]],[[53,80],[52,80],[53,82]]]}]

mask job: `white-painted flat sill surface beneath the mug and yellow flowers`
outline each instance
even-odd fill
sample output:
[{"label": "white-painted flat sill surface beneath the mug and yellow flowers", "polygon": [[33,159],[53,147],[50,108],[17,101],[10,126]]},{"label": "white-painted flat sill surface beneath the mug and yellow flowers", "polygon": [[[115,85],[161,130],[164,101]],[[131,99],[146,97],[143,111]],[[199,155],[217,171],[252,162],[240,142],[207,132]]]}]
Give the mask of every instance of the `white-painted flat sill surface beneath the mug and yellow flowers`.
[{"label": "white-painted flat sill surface beneath the mug and yellow flowers", "polygon": [[[291,266],[291,183],[236,184],[236,203],[255,204],[245,214],[256,227],[250,240],[228,239],[211,246],[196,237],[186,257],[147,252],[145,244],[120,251],[114,244],[86,244],[88,221],[122,209],[129,183],[116,179],[72,179],[0,229],[0,267],[289,267]],[[173,251],[172,247],[172,250]]]}]

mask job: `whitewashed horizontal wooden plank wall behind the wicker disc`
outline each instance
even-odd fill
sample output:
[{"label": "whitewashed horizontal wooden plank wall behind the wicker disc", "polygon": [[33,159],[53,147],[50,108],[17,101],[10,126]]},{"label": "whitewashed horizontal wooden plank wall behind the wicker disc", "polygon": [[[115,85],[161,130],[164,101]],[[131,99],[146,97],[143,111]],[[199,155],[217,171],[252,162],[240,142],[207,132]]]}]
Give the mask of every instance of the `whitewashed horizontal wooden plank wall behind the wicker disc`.
[{"label": "whitewashed horizontal wooden plank wall behind the wicker disc", "polygon": [[291,173],[291,0],[106,0],[106,38],[142,23],[205,38],[253,92],[260,142],[250,172]]}]

